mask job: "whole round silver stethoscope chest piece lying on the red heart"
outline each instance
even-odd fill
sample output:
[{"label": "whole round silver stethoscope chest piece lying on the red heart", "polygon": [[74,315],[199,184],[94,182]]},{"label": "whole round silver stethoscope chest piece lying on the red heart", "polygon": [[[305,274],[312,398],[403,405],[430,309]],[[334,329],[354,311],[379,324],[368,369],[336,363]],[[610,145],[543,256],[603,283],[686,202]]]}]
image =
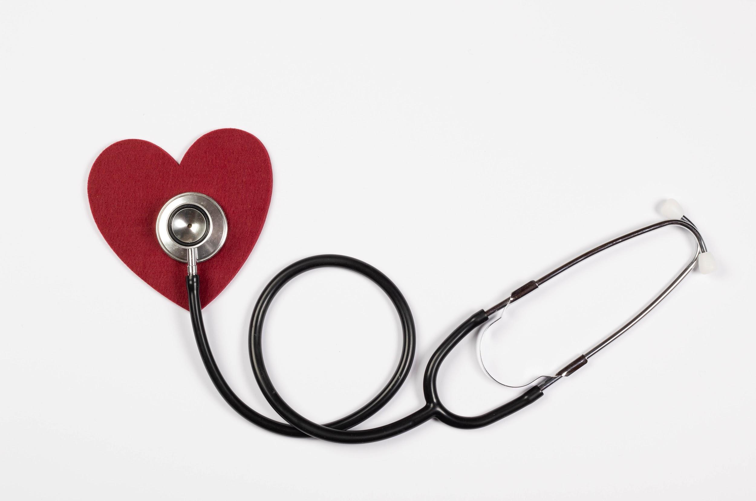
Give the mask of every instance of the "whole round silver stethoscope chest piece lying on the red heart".
[{"label": "whole round silver stethoscope chest piece lying on the red heart", "polygon": [[197,262],[206,261],[221,249],[228,225],[223,209],[202,193],[174,196],[157,216],[157,241],[176,261],[187,262],[187,249],[197,249]]}]

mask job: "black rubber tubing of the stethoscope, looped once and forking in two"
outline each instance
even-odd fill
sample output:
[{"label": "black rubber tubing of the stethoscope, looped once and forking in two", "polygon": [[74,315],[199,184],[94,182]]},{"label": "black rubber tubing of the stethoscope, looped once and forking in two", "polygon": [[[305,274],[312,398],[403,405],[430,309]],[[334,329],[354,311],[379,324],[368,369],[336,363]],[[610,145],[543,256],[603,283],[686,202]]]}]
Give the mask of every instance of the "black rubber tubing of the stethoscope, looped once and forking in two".
[{"label": "black rubber tubing of the stethoscope, looped once and forking in two", "polygon": [[[270,376],[268,376],[268,371],[265,369],[265,361],[262,357],[262,327],[265,320],[265,314],[267,313],[273,298],[284,285],[305,271],[327,266],[355,271],[356,273],[372,280],[373,283],[376,283],[377,286],[383,289],[383,292],[386,292],[386,295],[391,299],[391,302],[399,315],[399,319],[401,320],[402,351],[395,373],[391,379],[389,379],[386,386],[373,397],[372,400],[354,413],[349,414],[349,416],[327,423],[326,425],[319,425],[316,422],[306,419],[304,416],[293,410],[276,391],[273,382],[271,382]],[[268,400],[268,404],[271,404],[271,407],[273,407],[278,415],[290,424],[278,422],[257,413],[251,407],[244,404],[234,391],[231,390],[231,387],[225,381],[221,371],[218,369],[218,364],[215,363],[212,351],[210,351],[202,319],[202,306],[200,305],[200,278],[198,275],[187,277],[187,291],[189,294],[189,311],[191,314],[192,328],[194,329],[194,337],[197,339],[197,348],[200,350],[200,357],[202,357],[207,373],[210,376],[212,383],[215,385],[215,388],[218,389],[218,392],[224,400],[226,400],[228,405],[243,416],[244,419],[253,422],[261,428],[265,428],[268,431],[273,431],[280,435],[287,435],[290,437],[311,436],[342,444],[364,444],[399,435],[431,418],[438,419],[438,421],[454,426],[455,428],[479,428],[515,413],[543,396],[541,388],[533,386],[525,391],[525,393],[519,395],[519,397],[507,402],[507,404],[503,404],[488,413],[473,417],[459,416],[451,413],[451,411],[442,404],[440,397],[438,396],[438,386],[436,383],[438,370],[441,363],[451,350],[454,349],[465,336],[472,332],[472,330],[488,320],[488,316],[481,310],[465,320],[457,327],[457,329],[454,329],[454,332],[451,332],[444,342],[438,346],[430,358],[428,366],[426,366],[425,376],[423,377],[423,394],[426,398],[426,403],[423,407],[408,416],[398,419],[398,421],[389,423],[388,425],[367,430],[349,429],[363,422],[370,416],[373,416],[373,414],[386,405],[386,403],[391,400],[394,394],[398,391],[399,387],[401,387],[404,380],[407,379],[407,374],[409,374],[412,366],[415,349],[414,320],[412,319],[410,307],[407,305],[407,301],[404,299],[404,296],[401,295],[399,289],[388,277],[386,277],[386,275],[378,271],[376,268],[373,268],[373,266],[370,266],[370,264],[345,255],[315,255],[290,264],[290,266],[281,270],[273,280],[265,286],[265,289],[257,300],[252,319],[249,322],[249,359],[252,363],[252,369],[257,384],[262,390],[265,399]]]}]

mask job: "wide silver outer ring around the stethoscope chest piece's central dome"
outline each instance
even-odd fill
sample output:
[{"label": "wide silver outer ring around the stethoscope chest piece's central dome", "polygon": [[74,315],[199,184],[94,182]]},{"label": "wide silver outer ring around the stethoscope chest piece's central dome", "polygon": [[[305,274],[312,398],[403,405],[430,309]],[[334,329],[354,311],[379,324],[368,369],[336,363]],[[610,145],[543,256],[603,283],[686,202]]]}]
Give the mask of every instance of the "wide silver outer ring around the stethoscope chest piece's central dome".
[{"label": "wide silver outer ring around the stethoscope chest piece's central dome", "polygon": [[[198,209],[199,212],[203,212],[203,215],[207,216],[207,221],[203,221],[207,225],[204,237],[197,240],[194,245],[192,243],[180,243],[181,240],[171,234],[171,220],[179,212],[177,209],[183,209],[183,206]],[[166,202],[163,209],[160,209],[155,232],[160,247],[176,261],[187,262],[187,249],[197,249],[197,262],[202,262],[212,258],[215,252],[221,249],[226,241],[228,224],[223,209],[215,200],[202,193],[189,192],[174,196]]]}]

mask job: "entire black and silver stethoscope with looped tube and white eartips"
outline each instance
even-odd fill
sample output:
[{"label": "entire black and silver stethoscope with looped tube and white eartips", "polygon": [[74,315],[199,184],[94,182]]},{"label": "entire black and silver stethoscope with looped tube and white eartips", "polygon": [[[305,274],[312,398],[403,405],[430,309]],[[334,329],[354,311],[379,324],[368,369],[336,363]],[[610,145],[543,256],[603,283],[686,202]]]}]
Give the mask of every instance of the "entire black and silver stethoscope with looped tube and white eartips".
[{"label": "entire black and silver stethoscope with looped tube and white eartips", "polygon": [[[704,243],[699,230],[688,218],[686,218],[685,215],[683,215],[683,210],[680,208],[680,205],[673,199],[669,199],[662,206],[662,215],[668,219],[631,231],[621,237],[609,240],[588,252],[584,252],[584,254],[578,255],[578,257],[567,261],[565,264],[562,264],[562,266],[559,266],[559,268],[550,271],[538,280],[531,280],[518,289],[515,289],[509,297],[504,298],[503,301],[488,308],[488,310],[480,310],[475,314],[472,314],[471,317],[451,332],[442,344],[436,348],[432,357],[430,357],[428,365],[426,366],[425,375],[423,376],[423,394],[426,400],[423,407],[420,407],[419,410],[416,410],[414,413],[411,413],[404,418],[398,419],[398,421],[367,430],[352,430],[350,428],[363,422],[368,417],[373,416],[374,413],[391,400],[404,382],[404,379],[407,379],[407,374],[410,372],[415,351],[415,326],[410,307],[407,305],[407,301],[404,299],[404,296],[401,295],[399,289],[397,289],[394,283],[392,283],[386,275],[370,266],[370,264],[359,261],[355,258],[350,258],[349,256],[314,255],[310,258],[296,261],[287,266],[287,268],[283,268],[283,270],[281,270],[273,280],[265,286],[265,289],[257,300],[252,319],[249,323],[249,359],[252,362],[255,379],[257,380],[257,384],[259,385],[262,394],[265,395],[265,399],[268,400],[268,403],[271,404],[271,407],[274,408],[278,415],[286,421],[279,422],[262,416],[262,414],[257,413],[237,397],[237,394],[231,390],[231,387],[229,387],[228,383],[223,378],[221,371],[218,369],[218,364],[215,363],[215,358],[212,356],[212,351],[210,351],[207,340],[205,326],[203,324],[202,307],[200,305],[200,277],[197,274],[197,263],[212,258],[212,256],[221,249],[226,240],[228,225],[223,209],[215,202],[215,200],[202,193],[181,193],[170,199],[163,206],[163,209],[160,210],[156,223],[156,233],[160,246],[163,247],[163,250],[168,255],[177,261],[187,263],[186,283],[194,337],[197,340],[197,347],[200,349],[200,357],[202,357],[207,373],[215,385],[215,388],[218,389],[218,392],[226,400],[228,405],[249,422],[253,422],[261,428],[274,431],[280,435],[287,435],[290,437],[310,436],[344,444],[364,444],[366,442],[379,441],[399,435],[400,433],[415,428],[417,425],[432,418],[438,419],[438,421],[454,426],[455,428],[480,428],[485,425],[490,425],[493,422],[497,422],[499,419],[509,416],[533,403],[535,400],[538,400],[543,396],[546,388],[549,388],[555,382],[559,381],[559,379],[568,377],[582,366],[585,366],[590,357],[593,357],[593,355],[601,351],[603,348],[606,348],[609,343],[618,339],[619,336],[624,334],[624,332],[627,332],[628,329],[638,323],[640,319],[649,313],[649,311],[662,302],[662,299],[666,298],[672,289],[674,289],[683,278],[688,276],[692,269],[696,267],[696,264],[698,264],[699,271],[703,274],[708,274],[711,273],[711,271],[714,271],[714,268],[716,268],[714,258],[711,253],[707,251],[706,244]],[[519,397],[510,400],[507,404],[503,404],[494,410],[483,413],[480,416],[460,416],[459,414],[452,413],[444,404],[442,404],[441,398],[438,396],[438,385],[436,382],[438,378],[438,370],[441,368],[441,364],[451,350],[453,350],[454,347],[457,346],[470,332],[482,327],[479,336],[479,360],[485,373],[488,374],[491,379],[494,379],[494,381],[504,385],[503,382],[495,379],[494,376],[491,376],[491,373],[485,369],[485,363],[483,362],[484,359],[482,356],[482,344],[480,341],[482,341],[483,335],[488,330],[488,327],[500,320],[503,312],[506,311],[510,305],[519,301],[525,297],[525,295],[534,292],[534,290],[543,286],[544,283],[547,283],[553,277],[569,270],[569,268],[572,268],[575,264],[578,264],[599,252],[616,246],[618,243],[626,242],[635,237],[640,237],[640,235],[645,233],[668,226],[683,227],[692,233],[693,237],[696,238],[696,253],[689,263],[686,264],[685,268],[683,268],[683,271],[681,271],[680,274],[678,274],[677,277],[675,277],[674,280],[672,280],[659,295],[653,298],[652,301],[649,302],[649,304],[646,305],[646,307],[635,317],[619,329],[615,330],[615,332],[612,332],[612,334],[607,336],[589,351],[576,357],[575,360],[568,363],[553,376],[539,376],[527,385],[513,386],[514,388],[522,388],[523,386],[532,385],[524,393],[520,394]],[[386,295],[391,299],[391,302],[399,315],[399,319],[401,320],[402,348],[398,366],[391,376],[391,379],[389,379],[386,386],[383,387],[372,400],[360,409],[349,414],[349,416],[344,416],[342,419],[337,419],[336,421],[329,422],[325,425],[319,425],[297,413],[296,410],[293,410],[293,408],[290,407],[276,391],[270,376],[268,376],[268,370],[265,368],[265,361],[262,357],[262,335],[265,314],[280,289],[297,275],[314,268],[323,268],[326,266],[355,271],[372,280],[373,283],[376,283],[377,286],[383,289],[383,292],[386,292]]]}]

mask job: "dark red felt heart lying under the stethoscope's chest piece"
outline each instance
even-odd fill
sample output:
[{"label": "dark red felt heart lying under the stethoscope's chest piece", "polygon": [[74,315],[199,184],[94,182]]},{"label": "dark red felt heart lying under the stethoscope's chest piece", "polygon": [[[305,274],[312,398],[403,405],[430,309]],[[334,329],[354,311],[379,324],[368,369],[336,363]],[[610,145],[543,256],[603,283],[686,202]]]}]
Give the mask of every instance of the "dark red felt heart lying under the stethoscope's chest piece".
[{"label": "dark red felt heart lying under the stethoscope's chest piece", "polygon": [[89,172],[89,206],[100,232],[119,258],[157,292],[187,308],[186,264],[170,258],[155,234],[160,208],[178,193],[215,199],[228,218],[218,254],[200,264],[200,300],[208,305],[252,252],[273,190],[268,152],[255,136],[221,128],[194,141],[181,163],[140,139],[111,144]]}]

